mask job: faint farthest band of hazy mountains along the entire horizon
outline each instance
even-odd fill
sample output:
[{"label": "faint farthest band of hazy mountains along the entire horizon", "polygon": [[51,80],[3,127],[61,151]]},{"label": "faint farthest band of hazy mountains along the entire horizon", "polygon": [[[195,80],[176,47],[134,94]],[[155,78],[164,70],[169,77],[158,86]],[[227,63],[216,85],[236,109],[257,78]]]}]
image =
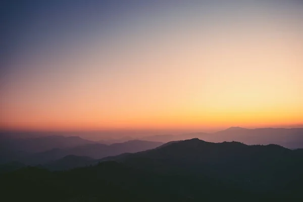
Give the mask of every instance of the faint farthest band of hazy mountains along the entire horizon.
[{"label": "faint farthest band of hazy mountains along the entire horizon", "polygon": [[[100,134],[99,134],[100,133]],[[137,133],[128,134],[120,138],[105,138],[103,137],[104,132],[95,131],[93,133],[94,139],[98,140],[85,140],[83,137],[90,137],[89,133],[76,132],[77,136],[70,137],[69,140],[60,140],[64,135],[72,136],[73,133],[30,133],[30,132],[12,132],[12,131],[1,131],[0,132],[0,144],[3,147],[16,148],[20,151],[28,151],[30,153],[41,152],[52,148],[62,148],[67,146],[76,146],[77,144],[88,144],[88,143],[102,143],[102,144],[113,144],[122,143],[129,140],[146,140],[146,141],[157,141],[157,142],[170,142],[176,140],[185,140],[192,138],[199,138],[211,142],[223,142],[223,141],[239,141],[245,144],[279,144],[287,148],[303,148],[303,128],[256,128],[246,129],[241,127],[230,127],[225,130],[221,130],[214,133],[205,132],[191,132],[182,134],[158,134],[149,136],[137,136]],[[47,135],[49,134],[49,135]],[[55,135],[57,134],[57,135]],[[60,134],[60,135],[58,135]],[[110,133],[109,131],[109,134]],[[114,135],[114,134],[113,134]],[[47,142],[43,139],[50,138]],[[59,141],[65,141],[59,145],[59,141],[52,140],[53,137],[57,137]],[[41,142],[39,142],[39,139]],[[72,140],[74,139],[74,140]],[[72,140],[72,141],[71,141]],[[44,141],[44,143],[43,143]],[[86,141],[86,142],[85,142]],[[72,142],[72,143],[71,143]],[[64,145],[65,144],[65,145]],[[71,144],[71,145],[70,145]]]}]

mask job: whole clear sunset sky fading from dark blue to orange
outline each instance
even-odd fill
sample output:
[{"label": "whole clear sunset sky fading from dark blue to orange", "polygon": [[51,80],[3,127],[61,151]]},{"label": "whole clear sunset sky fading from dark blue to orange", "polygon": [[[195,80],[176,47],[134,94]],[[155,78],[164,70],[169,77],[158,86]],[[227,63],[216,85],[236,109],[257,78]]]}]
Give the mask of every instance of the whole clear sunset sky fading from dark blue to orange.
[{"label": "whole clear sunset sky fading from dark blue to orange", "polygon": [[303,125],[302,1],[0,5],[0,129]]}]

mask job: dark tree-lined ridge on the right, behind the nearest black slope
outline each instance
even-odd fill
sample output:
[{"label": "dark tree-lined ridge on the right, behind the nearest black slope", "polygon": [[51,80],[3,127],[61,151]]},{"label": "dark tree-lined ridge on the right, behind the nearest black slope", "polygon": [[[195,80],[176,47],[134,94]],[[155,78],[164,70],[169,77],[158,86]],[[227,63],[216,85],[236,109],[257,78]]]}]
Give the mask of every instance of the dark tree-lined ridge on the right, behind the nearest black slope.
[{"label": "dark tree-lined ridge on the right, behind the nearest black slope", "polygon": [[107,160],[159,173],[207,174],[267,191],[279,182],[291,182],[303,170],[303,155],[298,150],[275,144],[212,143],[197,138]]}]

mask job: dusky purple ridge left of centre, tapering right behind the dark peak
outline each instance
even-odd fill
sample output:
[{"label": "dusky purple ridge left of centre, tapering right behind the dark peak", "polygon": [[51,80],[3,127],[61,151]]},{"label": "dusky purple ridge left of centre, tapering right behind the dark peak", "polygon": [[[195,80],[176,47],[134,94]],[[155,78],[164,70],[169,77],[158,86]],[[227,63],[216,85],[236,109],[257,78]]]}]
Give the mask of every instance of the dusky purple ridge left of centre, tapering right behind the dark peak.
[{"label": "dusky purple ridge left of centre, tapering right behind the dark peak", "polygon": [[69,155],[101,159],[108,156],[115,156],[123,153],[135,153],[146,149],[156,148],[162,144],[162,142],[130,140],[111,145],[94,143],[71,148],[55,148],[30,156],[30,158],[25,160],[25,163],[30,165],[45,164],[49,161],[55,161]]}]

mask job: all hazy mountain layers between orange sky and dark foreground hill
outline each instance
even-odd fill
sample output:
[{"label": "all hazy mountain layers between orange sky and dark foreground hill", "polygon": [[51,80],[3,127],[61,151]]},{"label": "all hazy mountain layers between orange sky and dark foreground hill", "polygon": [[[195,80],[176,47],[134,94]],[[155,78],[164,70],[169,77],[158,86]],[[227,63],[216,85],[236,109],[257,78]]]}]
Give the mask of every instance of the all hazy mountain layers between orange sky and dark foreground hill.
[{"label": "all hazy mountain layers between orange sky and dark foreground hill", "polygon": [[[12,138],[2,135],[0,139],[0,164],[19,162],[26,165],[46,164],[65,156],[86,156],[102,159],[123,153],[135,153],[155,148],[165,142],[199,138],[209,142],[238,141],[252,144],[278,144],[287,148],[303,148],[302,128],[258,128],[231,127],[216,133],[186,133],[180,135],[154,135],[134,139],[92,141],[77,136],[46,136]],[[111,142],[111,143],[110,143]],[[119,143],[112,143],[119,142]]]}]

